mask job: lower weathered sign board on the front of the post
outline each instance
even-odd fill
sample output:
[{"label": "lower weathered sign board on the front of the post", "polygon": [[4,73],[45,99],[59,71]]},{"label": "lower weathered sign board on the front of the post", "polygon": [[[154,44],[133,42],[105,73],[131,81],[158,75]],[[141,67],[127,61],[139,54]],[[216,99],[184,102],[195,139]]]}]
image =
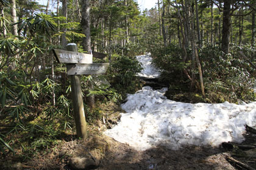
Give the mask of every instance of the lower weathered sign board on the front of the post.
[{"label": "lower weathered sign board on the front of the post", "polygon": [[109,63],[67,64],[66,71],[68,75],[104,74],[108,66]]}]

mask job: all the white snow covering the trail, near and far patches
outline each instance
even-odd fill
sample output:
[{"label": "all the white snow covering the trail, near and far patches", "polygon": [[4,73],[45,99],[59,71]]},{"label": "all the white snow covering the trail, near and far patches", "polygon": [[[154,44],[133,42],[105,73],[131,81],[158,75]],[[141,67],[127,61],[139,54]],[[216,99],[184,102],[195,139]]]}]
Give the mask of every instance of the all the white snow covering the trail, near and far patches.
[{"label": "all the white snow covering the trail, near and far patches", "polygon": [[[140,62],[151,62],[149,55],[137,58]],[[152,78],[158,76],[158,72],[154,67],[147,67],[141,75]],[[186,144],[240,143],[244,140],[244,125],[256,124],[255,102],[243,105],[180,103],[168,100],[164,96],[166,90],[146,86],[136,94],[129,94],[127,102],[121,106],[127,113],[121,114],[118,125],[104,133],[141,151],[158,144],[179,149]]]}]

